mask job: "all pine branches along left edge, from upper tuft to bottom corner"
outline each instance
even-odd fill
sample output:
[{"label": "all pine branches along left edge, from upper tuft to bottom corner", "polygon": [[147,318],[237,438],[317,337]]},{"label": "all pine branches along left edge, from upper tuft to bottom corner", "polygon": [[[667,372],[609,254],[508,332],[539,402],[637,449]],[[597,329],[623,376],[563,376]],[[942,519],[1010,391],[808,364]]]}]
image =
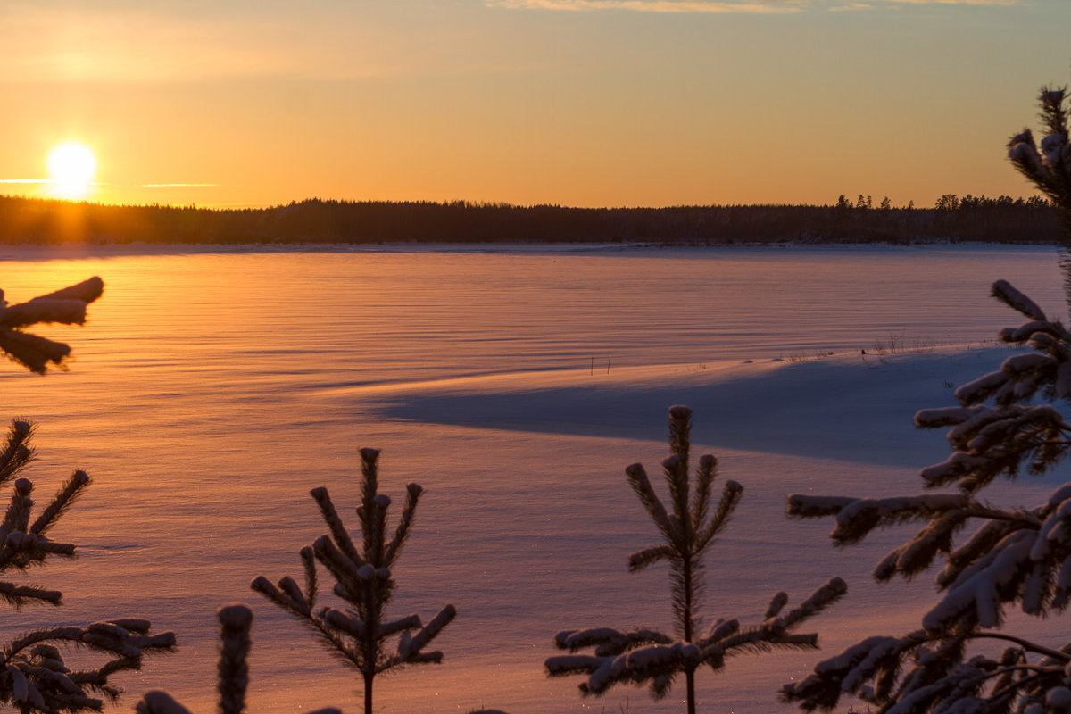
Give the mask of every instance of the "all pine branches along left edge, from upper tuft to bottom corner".
[{"label": "all pine branches along left edge, from upper tuft to bottom corner", "polygon": [[[28,369],[44,374],[48,364],[62,366],[71,348],[25,332],[47,322],[82,324],[86,306],[101,295],[94,277],[64,290],[9,306],[0,291],[0,352]],[[11,485],[7,510],[0,521],[0,573],[25,572],[49,558],[72,558],[75,546],[49,537],[51,529],[89,486],[77,470],[48,504],[34,514],[33,483],[18,476],[33,460],[33,425],[15,420],[0,446],[0,486]],[[9,605],[61,605],[62,593],[35,584],[0,581],[0,598]],[[116,699],[121,689],[108,678],[140,669],[146,655],[171,652],[175,635],[150,634],[147,620],[120,618],[90,625],[41,626],[0,649],[0,701],[22,714],[100,711],[99,695]],[[72,670],[66,648],[77,645],[104,655],[104,662]],[[61,649],[62,648],[62,649]]]}]

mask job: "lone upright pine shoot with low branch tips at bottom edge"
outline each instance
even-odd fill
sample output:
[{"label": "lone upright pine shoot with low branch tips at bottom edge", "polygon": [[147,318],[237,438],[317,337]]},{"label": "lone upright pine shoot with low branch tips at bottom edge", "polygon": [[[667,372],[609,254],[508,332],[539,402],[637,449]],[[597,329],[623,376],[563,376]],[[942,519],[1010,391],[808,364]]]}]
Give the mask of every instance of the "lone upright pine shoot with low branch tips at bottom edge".
[{"label": "lone upright pine shoot with low branch tips at bottom edge", "polygon": [[[252,640],[253,611],[240,603],[225,605],[218,609],[220,660],[216,667],[220,679],[218,714],[242,714],[245,711],[245,690],[250,684],[250,668],[246,657]],[[190,710],[175,700],[171,695],[160,689],[146,692],[134,708],[137,714],[191,714]],[[310,714],[341,714],[334,708],[319,709]]]}]

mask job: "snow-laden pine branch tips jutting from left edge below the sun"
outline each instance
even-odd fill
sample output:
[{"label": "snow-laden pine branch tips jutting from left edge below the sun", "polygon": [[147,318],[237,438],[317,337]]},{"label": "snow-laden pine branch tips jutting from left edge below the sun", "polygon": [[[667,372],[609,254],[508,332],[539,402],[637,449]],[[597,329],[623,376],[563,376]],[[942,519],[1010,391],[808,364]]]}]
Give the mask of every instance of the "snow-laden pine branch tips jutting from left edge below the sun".
[{"label": "snow-laden pine branch tips jutting from left edge below the sun", "polygon": [[71,348],[26,332],[26,328],[45,322],[84,324],[86,306],[103,291],[104,282],[91,277],[70,288],[9,305],[0,290],[0,353],[39,375],[45,374],[49,363],[62,367]]}]

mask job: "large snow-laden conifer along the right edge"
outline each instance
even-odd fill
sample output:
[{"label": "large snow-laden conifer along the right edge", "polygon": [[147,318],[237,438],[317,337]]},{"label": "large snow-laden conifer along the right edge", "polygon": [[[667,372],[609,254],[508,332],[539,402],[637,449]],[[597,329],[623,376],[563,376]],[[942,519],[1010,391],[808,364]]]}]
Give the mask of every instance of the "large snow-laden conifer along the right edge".
[{"label": "large snow-laden conifer along the right edge", "polygon": [[[1041,152],[1029,131],[1012,137],[1009,156],[1053,199],[1071,229],[1071,152],[1065,92],[1044,89]],[[1071,243],[1069,243],[1071,244]],[[1071,277],[1068,253],[1061,260]],[[1071,304],[1071,280],[1066,284]],[[1028,346],[1000,369],[955,391],[957,407],[923,409],[915,423],[946,428],[952,454],[921,472],[927,489],[955,489],[886,499],[789,496],[788,515],[834,516],[838,545],[862,541],[875,528],[920,522],[921,529],[874,569],[878,581],[905,578],[942,561],[940,598],[921,627],[875,636],[819,663],[783,696],[806,711],[831,710],[855,695],[878,712],[933,714],[1071,713],[1071,639],[1066,621],[1046,640],[1005,632],[1006,611],[1044,618],[1071,603],[1071,482],[1034,507],[981,499],[999,477],[1043,474],[1071,450],[1071,424],[1051,404],[1071,402],[1071,333],[1004,280],[993,295],[1027,318],[1000,333]],[[1041,397],[1044,402],[1036,404]],[[970,534],[956,544],[961,531]],[[1000,643],[1002,649],[992,647]]]}]

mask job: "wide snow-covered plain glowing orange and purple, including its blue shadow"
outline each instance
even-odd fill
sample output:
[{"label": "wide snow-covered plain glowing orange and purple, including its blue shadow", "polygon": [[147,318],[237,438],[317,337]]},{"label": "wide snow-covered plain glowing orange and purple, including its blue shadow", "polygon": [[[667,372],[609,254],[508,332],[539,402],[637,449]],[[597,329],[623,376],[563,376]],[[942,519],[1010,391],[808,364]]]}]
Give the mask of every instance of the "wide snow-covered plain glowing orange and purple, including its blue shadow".
[{"label": "wide snow-covered plain glowing orange and purple, including its blue shadow", "polygon": [[[256,612],[251,711],[359,710],[359,679],[248,582],[300,575],[325,530],[308,490],[356,505],[361,446],[383,450],[384,492],[428,491],[394,611],[461,611],[436,640],[443,664],[386,677],[377,710],[679,711],[637,689],[582,699],[542,672],[559,629],[669,625],[665,571],[627,572],[654,528],[623,469],[657,471],[673,404],[744,486],[705,613],[748,621],[779,590],[797,603],[848,581],[814,621],[824,652],[699,678],[704,711],[790,711],[781,683],[917,626],[933,586],[872,584],[904,534],[836,551],[831,523],[785,519],[785,496],[918,491],[947,446],[911,415],[995,368],[993,336],[1019,323],[989,285],[1064,313],[1043,248],[0,250],[11,301],[94,274],[90,324],[45,333],[75,346],[72,369],[0,374],[0,414],[40,423],[39,488],[74,467],[95,480],[56,532],[81,557],[32,574],[65,606],[0,611],[3,632],[148,617],[180,653],[123,679],[121,707],[163,687],[198,712],[214,701],[213,613],[233,601]],[[1002,492],[1032,504],[1051,488]]]}]

